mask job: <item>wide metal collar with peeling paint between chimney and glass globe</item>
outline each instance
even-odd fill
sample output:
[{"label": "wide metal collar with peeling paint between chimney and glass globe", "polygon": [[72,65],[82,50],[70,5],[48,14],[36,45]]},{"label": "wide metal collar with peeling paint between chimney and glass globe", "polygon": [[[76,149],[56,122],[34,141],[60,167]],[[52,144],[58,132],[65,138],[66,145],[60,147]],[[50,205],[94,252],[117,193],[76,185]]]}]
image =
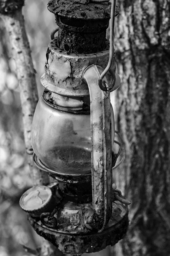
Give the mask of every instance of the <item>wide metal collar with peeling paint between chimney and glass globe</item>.
[{"label": "wide metal collar with peeling paint between chimney and glass globe", "polygon": [[[85,97],[89,96],[89,91],[87,84],[82,80],[82,73],[91,64],[106,67],[109,59],[109,42],[106,41],[104,51],[96,54],[68,54],[57,47],[55,38],[49,44],[46,56],[45,74],[41,77],[42,85],[47,90],[63,96]],[[115,62],[110,71],[115,73]],[[110,72],[107,80],[112,80]]]}]

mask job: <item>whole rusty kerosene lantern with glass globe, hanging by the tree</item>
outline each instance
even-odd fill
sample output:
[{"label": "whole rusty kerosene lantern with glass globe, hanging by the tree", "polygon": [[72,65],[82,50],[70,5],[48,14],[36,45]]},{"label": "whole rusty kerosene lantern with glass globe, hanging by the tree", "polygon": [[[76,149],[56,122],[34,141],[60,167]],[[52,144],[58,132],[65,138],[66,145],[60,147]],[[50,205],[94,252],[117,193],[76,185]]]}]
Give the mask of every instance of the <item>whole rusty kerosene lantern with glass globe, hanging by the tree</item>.
[{"label": "whole rusty kerosene lantern with glass globe, hanging by the tree", "polygon": [[[27,190],[20,205],[36,232],[63,253],[114,245],[126,233],[129,201],[112,186],[115,129],[110,92],[120,83],[113,58],[114,17],[107,0],[52,0],[58,37],[47,50],[45,87],[35,110],[35,165],[53,178]],[[106,29],[110,24],[110,46]],[[110,52],[110,54],[109,54]],[[116,165],[115,165],[116,164]]]}]

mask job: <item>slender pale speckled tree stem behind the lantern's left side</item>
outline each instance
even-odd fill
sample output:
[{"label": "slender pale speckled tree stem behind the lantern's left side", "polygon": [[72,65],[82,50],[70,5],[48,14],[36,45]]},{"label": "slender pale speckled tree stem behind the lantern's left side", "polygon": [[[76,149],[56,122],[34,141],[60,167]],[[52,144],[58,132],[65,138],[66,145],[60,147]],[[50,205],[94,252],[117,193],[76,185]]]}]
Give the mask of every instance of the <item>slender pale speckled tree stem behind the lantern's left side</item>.
[{"label": "slender pale speckled tree stem behind the lantern's left side", "polygon": [[33,164],[31,154],[31,124],[38,101],[35,72],[31,59],[31,51],[27,34],[25,32],[24,18],[22,16],[23,0],[0,0],[0,17],[4,21],[9,35],[12,54],[16,61],[17,76],[20,88],[20,99],[23,120],[23,132],[27,160],[31,171],[33,186],[47,184],[49,178]]}]

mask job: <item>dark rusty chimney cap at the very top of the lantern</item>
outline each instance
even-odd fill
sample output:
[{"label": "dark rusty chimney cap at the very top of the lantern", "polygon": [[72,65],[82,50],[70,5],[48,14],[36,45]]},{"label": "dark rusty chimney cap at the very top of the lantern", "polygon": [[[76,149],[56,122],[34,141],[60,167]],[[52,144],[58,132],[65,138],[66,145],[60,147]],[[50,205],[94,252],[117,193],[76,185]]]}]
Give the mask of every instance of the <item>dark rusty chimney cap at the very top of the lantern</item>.
[{"label": "dark rusty chimney cap at the very top of the lantern", "polygon": [[48,3],[59,26],[58,46],[69,53],[90,54],[104,50],[109,26],[109,2],[57,0]]}]

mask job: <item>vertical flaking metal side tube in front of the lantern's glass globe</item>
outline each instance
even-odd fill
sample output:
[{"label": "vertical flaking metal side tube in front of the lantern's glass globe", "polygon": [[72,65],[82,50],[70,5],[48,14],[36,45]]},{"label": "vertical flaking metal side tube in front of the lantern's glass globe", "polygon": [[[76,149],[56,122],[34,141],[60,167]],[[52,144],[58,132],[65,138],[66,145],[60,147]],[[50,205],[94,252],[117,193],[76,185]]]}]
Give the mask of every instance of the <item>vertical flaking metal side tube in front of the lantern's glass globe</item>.
[{"label": "vertical flaking metal side tube in front of the lantern's glass globe", "polygon": [[110,93],[99,87],[101,69],[93,64],[82,76],[90,92],[93,214],[88,224],[98,232],[105,228],[112,211]]}]

